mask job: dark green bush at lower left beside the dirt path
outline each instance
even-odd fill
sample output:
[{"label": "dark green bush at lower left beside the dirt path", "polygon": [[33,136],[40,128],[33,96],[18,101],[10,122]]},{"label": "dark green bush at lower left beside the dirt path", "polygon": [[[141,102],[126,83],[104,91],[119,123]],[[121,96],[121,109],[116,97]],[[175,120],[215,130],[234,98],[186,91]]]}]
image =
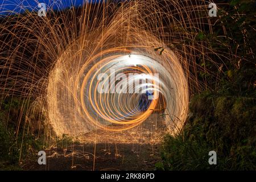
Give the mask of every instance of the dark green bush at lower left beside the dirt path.
[{"label": "dark green bush at lower left beside the dirt path", "polygon": [[[31,133],[23,134],[27,131],[24,123],[16,133],[18,116],[25,113],[21,112],[23,104],[23,100],[7,97],[0,107],[0,170],[20,170],[19,164],[24,159],[42,149],[41,140],[36,140]],[[21,120],[25,121],[24,116]]]}]

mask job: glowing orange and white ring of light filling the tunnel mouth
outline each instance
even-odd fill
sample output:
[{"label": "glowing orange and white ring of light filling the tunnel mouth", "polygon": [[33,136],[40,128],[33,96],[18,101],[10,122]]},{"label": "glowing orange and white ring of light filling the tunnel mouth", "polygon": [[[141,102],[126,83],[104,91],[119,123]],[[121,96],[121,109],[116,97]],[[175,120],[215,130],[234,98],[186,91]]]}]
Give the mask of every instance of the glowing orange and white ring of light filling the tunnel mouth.
[{"label": "glowing orange and white ring of light filling the tunnel mouth", "polygon": [[[67,69],[62,64],[62,59],[74,57],[73,53],[65,53],[65,57],[60,57],[48,85],[48,103],[55,109],[54,113],[49,109],[49,114],[52,114],[50,115],[52,126],[58,131],[57,133],[72,135],[76,131],[75,135],[78,135],[95,129],[129,130],[141,125],[154,113],[160,102],[156,97],[158,94],[161,94],[166,102],[166,111],[171,111],[173,115],[171,119],[166,118],[167,129],[179,129],[183,123],[176,117],[185,118],[187,111],[179,105],[185,106],[188,98],[183,69],[180,64],[168,61],[166,59],[168,57],[154,55],[153,52],[150,56],[148,52],[142,53],[123,48],[108,49],[103,55],[101,52],[91,56],[81,67],[75,67],[77,68],[75,70],[72,70],[74,67]],[[171,51],[170,55],[172,60],[178,61]],[[166,64],[164,62],[169,66],[164,67]],[[114,73],[112,73],[113,70]],[[116,80],[119,73],[125,75],[127,79]],[[108,89],[99,87],[100,74],[108,76],[105,81],[102,81],[102,85],[108,85]],[[158,77],[155,77],[155,74]],[[111,81],[112,76],[114,84]],[[138,83],[143,79],[147,79],[148,82],[135,85],[136,81]],[[106,83],[107,80],[108,83]],[[116,81],[119,82],[116,84]],[[116,93],[116,86],[123,85],[123,82],[127,85],[126,92],[122,87]],[[129,93],[130,88],[133,90],[131,93]],[[112,92],[113,89],[114,92]],[[102,90],[107,92],[101,92]],[[142,94],[148,92],[152,93],[154,99],[148,101],[147,108],[142,111],[138,108],[138,102]],[[185,96],[182,96],[184,93]]]}]

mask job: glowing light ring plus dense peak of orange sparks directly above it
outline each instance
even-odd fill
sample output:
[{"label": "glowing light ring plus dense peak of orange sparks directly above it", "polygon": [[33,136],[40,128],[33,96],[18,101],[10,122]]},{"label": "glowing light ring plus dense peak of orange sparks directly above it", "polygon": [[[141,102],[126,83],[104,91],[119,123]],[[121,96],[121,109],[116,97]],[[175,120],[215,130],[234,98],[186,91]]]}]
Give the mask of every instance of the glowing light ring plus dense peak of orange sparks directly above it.
[{"label": "glowing light ring plus dense peak of orange sparks directly above it", "polygon": [[[56,133],[77,135],[96,129],[95,126],[111,131],[127,130],[150,116],[158,99],[152,100],[147,110],[142,112],[136,107],[141,94],[116,93],[117,90],[98,92],[98,75],[114,68],[125,75],[161,72],[161,84],[156,89],[163,94],[170,114],[180,118],[172,117],[172,121],[166,120],[166,125],[172,130],[182,126],[180,121],[184,121],[188,109],[185,73],[170,49],[166,49],[162,56],[154,51],[152,47],[160,45],[160,40],[141,28],[146,26],[146,22],[140,20],[140,14],[133,13],[141,11],[135,7],[137,5],[123,5],[111,20],[105,16],[103,20],[106,23],[97,25],[102,30],[86,32],[57,60],[49,76],[47,94],[49,118]],[[117,80],[114,79],[115,82]]]}]

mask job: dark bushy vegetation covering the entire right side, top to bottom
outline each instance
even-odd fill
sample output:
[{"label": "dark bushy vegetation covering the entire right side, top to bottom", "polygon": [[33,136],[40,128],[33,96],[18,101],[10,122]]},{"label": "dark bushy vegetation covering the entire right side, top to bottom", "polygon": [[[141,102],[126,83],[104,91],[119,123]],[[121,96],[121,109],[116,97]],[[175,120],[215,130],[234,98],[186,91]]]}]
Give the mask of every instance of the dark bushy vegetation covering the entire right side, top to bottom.
[{"label": "dark bushy vegetation covering the entire right side, top to bottom", "polygon": [[[230,1],[225,7],[229,14],[218,11],[222,16],[214,34],[201,33],[200,39],[207,39],[212,49],[229,52],[231,57],[216,59],[225,63],[218,82],[208,73],[199,73],[202,81],[207,78],[209,88],[192,96],[182,132],[164,138],[157,169],[256,170],[255,6],[253,1]],[[242,13],[246,16],[237,15]],[[224,35],[222,26],[225,36],[218,37]],[[203,63],[199,60],[199,64]],[[215,69],[210,63],[203,66]],[[212,150],[217,152],[217,165],[208,163]]]}]

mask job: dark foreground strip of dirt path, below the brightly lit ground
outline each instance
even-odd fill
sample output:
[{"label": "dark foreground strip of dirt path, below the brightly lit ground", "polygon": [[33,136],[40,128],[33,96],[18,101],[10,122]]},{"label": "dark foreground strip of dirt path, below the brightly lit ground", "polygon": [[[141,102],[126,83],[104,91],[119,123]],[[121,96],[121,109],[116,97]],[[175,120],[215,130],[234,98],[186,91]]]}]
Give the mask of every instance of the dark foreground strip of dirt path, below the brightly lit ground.
[{"label": "dark foreground strip of dirt path, below the brightly lit ground", "polygon": [[93,154],[94,144],[67,150],[53,148],[47,151],[46,165],[39,165],[38,156],[35,156],[23,164],[23,170],[154,170],[155,163],[160,160],[159,146],[149,144],[99,143],[95,163]]}]

